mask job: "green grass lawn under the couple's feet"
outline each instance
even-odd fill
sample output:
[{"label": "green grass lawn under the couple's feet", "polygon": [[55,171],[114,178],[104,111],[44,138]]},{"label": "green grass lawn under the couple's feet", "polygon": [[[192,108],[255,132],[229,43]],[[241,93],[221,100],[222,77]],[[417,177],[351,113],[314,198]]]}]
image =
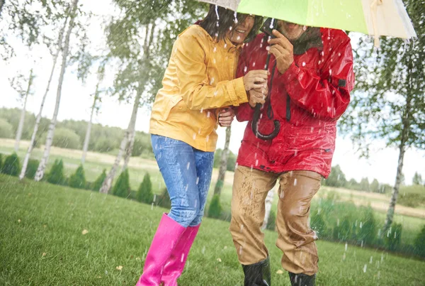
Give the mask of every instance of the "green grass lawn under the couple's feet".
[{"label": "green grass lawn under the couple's feet", "polygon": [[[0,175],[0,284],[135,285],[164,211]],[[204,219],[180,285],[242,285],[228,226]],[[273,285],[290,285],[287,273],[278,274],[276,238],[266,231]],[[340,243],[317,245],[317,285],[425,285],[424,261]]]}]

